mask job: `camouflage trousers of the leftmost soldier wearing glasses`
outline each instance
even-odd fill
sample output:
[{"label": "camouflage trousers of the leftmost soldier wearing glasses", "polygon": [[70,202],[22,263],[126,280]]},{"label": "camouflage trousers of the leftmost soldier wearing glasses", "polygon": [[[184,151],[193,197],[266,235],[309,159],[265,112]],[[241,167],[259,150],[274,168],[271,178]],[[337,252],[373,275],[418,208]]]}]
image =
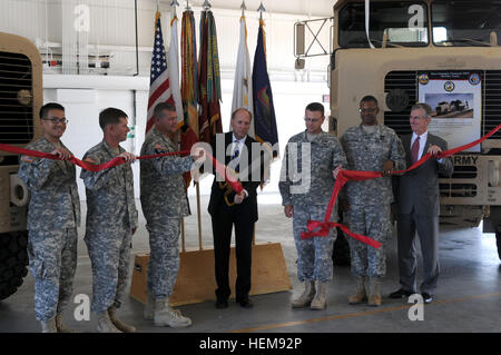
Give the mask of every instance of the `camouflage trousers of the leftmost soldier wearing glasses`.
[{"label": "camouflage trousers of the leftmost soldier wearing glasses", "polygon": [[28,255],[39,322],[51,319],[68,305],[77,269],[77,228],[29,230]]}]

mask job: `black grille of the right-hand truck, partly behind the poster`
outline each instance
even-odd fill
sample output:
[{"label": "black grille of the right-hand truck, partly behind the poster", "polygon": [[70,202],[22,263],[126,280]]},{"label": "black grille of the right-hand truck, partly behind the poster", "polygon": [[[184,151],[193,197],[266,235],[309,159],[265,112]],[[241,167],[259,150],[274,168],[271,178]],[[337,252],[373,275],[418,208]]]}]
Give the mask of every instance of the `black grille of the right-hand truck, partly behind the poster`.
[{"label": "black grille of the right-hand truck, partly behind the poster", "polygon": [[[384,125],[393,128],[399,135],[411,134],[409,115],[411,107],[418,102],[418,71],[391,71],[384,79],[384,92],[403,89],[409,95],[409,106],[401,112],[384,112]],[[483,111],[481,135],[484,136],[501,124],[501,70],[484,70],[482,78]],[[501,130],[489,139],[501,139]]]}]

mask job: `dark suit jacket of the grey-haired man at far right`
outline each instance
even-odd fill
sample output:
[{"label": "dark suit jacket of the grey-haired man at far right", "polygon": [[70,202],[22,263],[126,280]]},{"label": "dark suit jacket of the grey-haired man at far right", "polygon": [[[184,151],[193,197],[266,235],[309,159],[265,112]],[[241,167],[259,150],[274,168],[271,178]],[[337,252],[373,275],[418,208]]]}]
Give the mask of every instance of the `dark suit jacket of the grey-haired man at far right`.
[{"label": "dark suit jacket of the grey-haired man at far right", "polygon": [[[402,137],[407,167],[412,165],[411,139],[412,135]],[[448,150],[445,140],[428,132],[423,155],[432,145],[439,146],[442,150]],[[410,214],[414,208],[414,214],[418,215],[439,216],[439,174],[451,177],[453,171],[454,166],[450,158],[443,158],[442,162],[439,162],[435,158],[430,158],[419,168],[397,177],[395,190],[399,214]]]}]

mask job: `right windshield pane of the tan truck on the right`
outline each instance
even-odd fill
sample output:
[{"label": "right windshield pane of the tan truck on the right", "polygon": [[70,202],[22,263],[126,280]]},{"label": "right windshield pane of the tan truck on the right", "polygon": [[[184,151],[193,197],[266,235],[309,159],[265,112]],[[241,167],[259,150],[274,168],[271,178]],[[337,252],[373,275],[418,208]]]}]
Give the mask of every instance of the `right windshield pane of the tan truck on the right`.
[{"label": "right windshield pane of the tan truck on the right", "polygon": [[501,1],[434,1],[431,6],[435,46],[490,46],[491,32],[501,36]]}]

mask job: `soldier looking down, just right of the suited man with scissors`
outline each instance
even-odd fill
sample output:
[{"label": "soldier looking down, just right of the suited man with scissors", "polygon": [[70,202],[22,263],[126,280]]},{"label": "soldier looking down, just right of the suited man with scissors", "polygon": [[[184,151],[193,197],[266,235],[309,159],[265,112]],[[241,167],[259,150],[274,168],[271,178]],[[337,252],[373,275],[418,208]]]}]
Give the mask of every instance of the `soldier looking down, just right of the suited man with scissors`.
[{"label": "soldier looking down, just right of the suited man with scissors", "polygon": [[[285,216],[294,217],[297,249],[297,277],[305,283],[304,293],[292,300],[293,308],[326,307],[326,287],[333,276],[332,252],[336,239],[333,228],[326,237],[301,239],[308,219],[323,220],[334,188],[333,170],[346,166],[337,138],[324,132],[324,107],[313,102],[305,110],[306,130],[293,136],[285,149],[278,184]],[[336,221],[336,208],[332,221]],[[316,285],[315,285],[316,283]]]}]

